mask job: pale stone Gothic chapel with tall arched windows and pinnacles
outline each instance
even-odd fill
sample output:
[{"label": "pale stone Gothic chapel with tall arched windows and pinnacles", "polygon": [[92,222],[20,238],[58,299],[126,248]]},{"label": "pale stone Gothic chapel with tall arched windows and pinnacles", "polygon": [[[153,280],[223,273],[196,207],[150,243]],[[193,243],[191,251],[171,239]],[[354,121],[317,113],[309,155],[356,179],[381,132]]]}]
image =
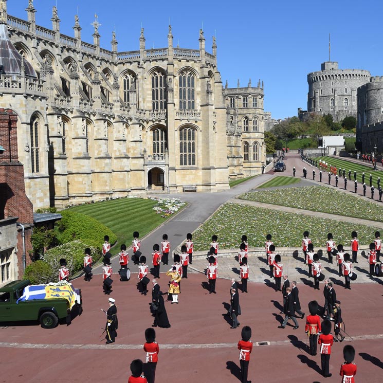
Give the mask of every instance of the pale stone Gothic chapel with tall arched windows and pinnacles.
[{"label": "pale stone Gothic chapel with tall arched windows and pinnacles", "polygon": [[[100,48],[97,19],[92,45],[81,40],[78,16],[71,38],[60,33],[56,7],[52,30],[35,24],[35,12],[29,1],[28,21],[8,15],[7,23],[38,78],[21,72],[0,81],[0,107],[18,117],[19,159],[34,208],[187,185],[216,192],[228,189],[230,177],[260,173],[263,89],[224,95],[215,39],[212,54],[202,30],[198,50],[173,47],[169,27],[167,48],[146,49],[142,29],[139,50],[118,52],[114,33],[112,50]],[[229,95],[239,102],[256,95],[259,105],[235,110]]]}]

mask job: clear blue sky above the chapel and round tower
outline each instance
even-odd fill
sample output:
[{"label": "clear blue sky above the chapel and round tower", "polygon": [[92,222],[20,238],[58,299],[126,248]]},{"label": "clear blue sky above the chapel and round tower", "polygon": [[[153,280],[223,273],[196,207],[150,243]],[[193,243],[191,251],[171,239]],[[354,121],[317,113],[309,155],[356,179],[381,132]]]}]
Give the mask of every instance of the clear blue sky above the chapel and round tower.
[{"label": "clear blue sky above the chapel and round tower", "polygon": [[[174,45],[198,49],[203,27],[206,50],[217,39],[218,70],[223,83],[236,87],[264,81],[265,111],[275,118],[306,109],[307,74],[319,70],[329,58],[340,68],[370,70],[383,76],[383,31],[379,1],[322,0],[256,2],[254,0],[132,2],[127,0],[34,0],[37,24],[51,28],[52,6],[58,7],[61,32],[74,35],[74,15],[79,9],[82,40],[92,43],[99,16],[101,47],[111,49],[116,28],[118,50],[138,50],[141,23],[147,48],[166,47],[169,18]],[[9,0],[8,13],[26,20],[28,0]]]}]

